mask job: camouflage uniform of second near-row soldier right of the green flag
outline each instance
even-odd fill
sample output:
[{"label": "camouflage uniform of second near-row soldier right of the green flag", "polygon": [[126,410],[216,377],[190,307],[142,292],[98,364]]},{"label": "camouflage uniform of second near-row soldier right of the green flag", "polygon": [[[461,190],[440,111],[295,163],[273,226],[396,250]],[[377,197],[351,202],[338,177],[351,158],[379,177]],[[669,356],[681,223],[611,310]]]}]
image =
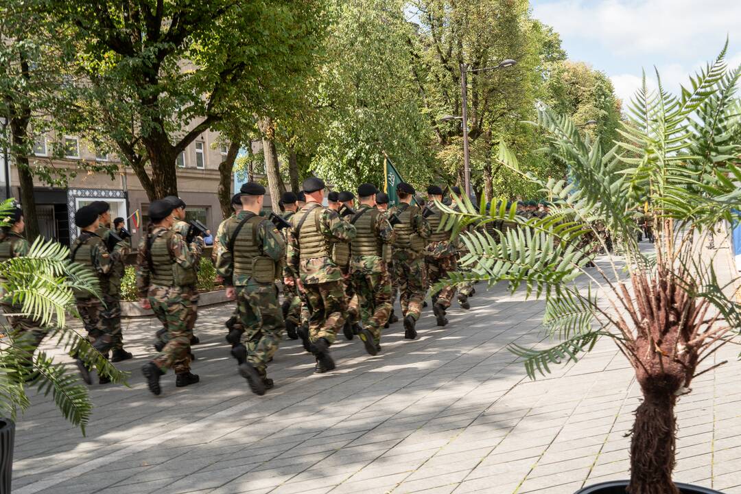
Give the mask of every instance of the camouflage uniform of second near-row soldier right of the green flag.
[{"label": "camouflage uniform of second near-row soldier right of the green flag", "polygon": [[[451,241],[450,231],[438,230],[440,221],[442,220],[442,211],[434,203],[428,206],[428,210],[432,211],[432,215],[428,217],[432,234],[430,236],[430,243],[425,249],[425,258],[427,260],[427,275],[430,286],[432,286],[438,281],[445,279],[448,273],[456,270],[458,247],[455,242]],[[451,301],[455,293],[456,287],[454,285],[447,285],[442,287],[439,292],[432,294],[432,302],[447,309],[451,306]]]}]

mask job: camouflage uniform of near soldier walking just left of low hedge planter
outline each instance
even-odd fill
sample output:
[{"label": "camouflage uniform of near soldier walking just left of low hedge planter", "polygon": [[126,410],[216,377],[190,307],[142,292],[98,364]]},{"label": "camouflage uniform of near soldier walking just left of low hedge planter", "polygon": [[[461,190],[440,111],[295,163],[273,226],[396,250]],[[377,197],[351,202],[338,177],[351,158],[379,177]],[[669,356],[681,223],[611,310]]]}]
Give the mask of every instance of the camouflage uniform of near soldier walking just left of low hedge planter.
[{"label": "camouflage uniform of near soldier walking just left of low hedge planter", "polygon": [[176,374],[190,372],[193,333],[188,318],[196,303],[190,290],[193,267],[201,253],[202,244],[193,241],[189,248],[179,233],[165,227],[154,227],[139,241],[136,292],[139,298],[149,299],[154,315],[167,331],[167,344],[153,360],[163,373],[170,367]]}]

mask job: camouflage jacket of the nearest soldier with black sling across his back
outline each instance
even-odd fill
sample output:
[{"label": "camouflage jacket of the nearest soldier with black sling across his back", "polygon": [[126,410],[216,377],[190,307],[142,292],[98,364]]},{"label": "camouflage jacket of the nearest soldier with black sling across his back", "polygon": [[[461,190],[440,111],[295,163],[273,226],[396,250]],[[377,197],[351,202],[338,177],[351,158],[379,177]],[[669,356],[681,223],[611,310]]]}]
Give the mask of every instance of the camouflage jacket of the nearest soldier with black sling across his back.
[{"label": "camouflage jacket of the nearest soldier with black sling across his back", "polygon": [[[233,253],[229,250],[231,239],[227,235],[227,233],[233,231],[234,228],[236,228],[236,225],[248,216],[253,216],[253,214],[250,213],[250,211],[241,211],[238,215],[227,219],[225,221],[224,229],[219,236],[219,244],[222,246],[222,253],[219,256],[219,264],[216,265],[216,273],[224,278],[224,284],[227,287],[243,287],[251,278],[251,276],[245,275],[233,276],[234,259]],[[268,218],[263,218],[263,220],[258,224],[255,239],[258,244],[258,250],[263,256],[267,256],[276,262],[281,262],[285,259],[285,240],[282,234],[278,231],[275,225],[268,220]]]}]

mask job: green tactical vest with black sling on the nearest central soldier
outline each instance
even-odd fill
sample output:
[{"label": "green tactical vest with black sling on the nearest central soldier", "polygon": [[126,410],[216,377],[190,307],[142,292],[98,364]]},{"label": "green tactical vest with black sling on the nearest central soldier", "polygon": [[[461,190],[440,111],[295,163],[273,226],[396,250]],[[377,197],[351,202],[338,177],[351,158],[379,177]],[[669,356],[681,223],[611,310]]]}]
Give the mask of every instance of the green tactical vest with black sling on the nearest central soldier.
[{"label": "green tactical vest with black sling on the nearest central soldier", "polygon": [[263,256],[261,246],[257,244],[257,228],[262,221],[270,220],[262,216],[248,216],[239,232],[236,232],[236,229],[242,220],[233,218],[226,226],[226,235],[233,249],[233,277],[235,278],[236,276],[248,276],[258,283],[273,283],[276,278],[279,278],[280,264],[268,256]]}]

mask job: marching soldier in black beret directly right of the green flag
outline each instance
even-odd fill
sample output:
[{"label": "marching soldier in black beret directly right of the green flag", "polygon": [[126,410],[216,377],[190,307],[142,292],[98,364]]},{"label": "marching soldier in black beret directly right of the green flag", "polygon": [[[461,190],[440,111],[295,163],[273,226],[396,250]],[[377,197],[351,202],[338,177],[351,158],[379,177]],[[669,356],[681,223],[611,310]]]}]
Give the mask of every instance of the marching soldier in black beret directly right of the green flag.
[{"label": "marching soldier in black beret directly right of the green flag", "polygon": [[404,316],[404,337],[416,338],[416,321],[422,312],[422,302],[427,293],[425,273],[425,244],[430,238],[430,225],[422,211],[411,204],[414,187],[405,182],[396,186],[399,204],[391,213],[399,218],[393,228],[396,241],[393,243],[393,277],[399,282],[399,302]]}]

